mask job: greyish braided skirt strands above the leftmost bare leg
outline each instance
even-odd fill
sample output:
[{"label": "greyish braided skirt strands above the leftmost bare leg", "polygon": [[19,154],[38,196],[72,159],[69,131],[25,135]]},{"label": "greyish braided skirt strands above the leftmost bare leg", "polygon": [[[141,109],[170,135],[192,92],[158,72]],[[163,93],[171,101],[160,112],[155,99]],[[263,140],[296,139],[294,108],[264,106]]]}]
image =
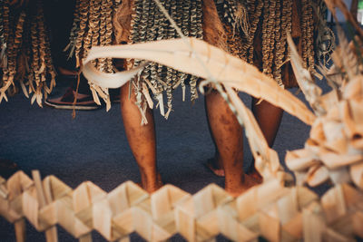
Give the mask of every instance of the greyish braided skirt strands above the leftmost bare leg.
[{"label": "greyish braided skirt strands above the leftmost bare leg", "polygon": [[[163,0],[161,3],[169,12],[169,15],[172,16],[175,23],[182,29],[184,35],[202,38],[201,0]],[[180,37],[153,0],[133,1],[132,13],[129,43],[136,44]],[[139,64],[140,61],[138,60],[133,62],[133,66]],[[127,65],[130,66],[131,63],[129,62]],[[191,101],[193,101],[198,97],[196,88],[198,78],[176,72],[158,63],[150,63],[145,67],[140,76],[133,80],[134,91],[137,97],[136,104],[139,106],[139,109],[144,110],[146,103],[143,103],[144,99],[142,97],[147,92],[144,90],[144,87],[148,87],[153,92],[154,99],[157,100],[162,115],[168,118],[172,111],[172,91],[181,85],[185,92],[185,82],[187,80],[191,86]],[[166,92],[167,111],[164,111],[163,108],[164,97],[162,92]]]}]

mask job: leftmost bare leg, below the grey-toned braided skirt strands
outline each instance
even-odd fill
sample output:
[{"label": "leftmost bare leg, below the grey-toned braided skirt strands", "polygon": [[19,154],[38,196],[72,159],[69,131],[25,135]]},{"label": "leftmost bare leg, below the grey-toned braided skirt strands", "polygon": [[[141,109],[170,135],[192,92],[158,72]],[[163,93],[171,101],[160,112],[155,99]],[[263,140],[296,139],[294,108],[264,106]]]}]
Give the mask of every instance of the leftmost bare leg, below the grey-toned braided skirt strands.
[{"label": "leftmost bare leg, below the grey-toned braided skirt strands", "polygon": [[121,88],[121,112],[123,126],[142,177],[142,189],[152,193],[162,187],[160,175],[156,166],[156,140],[152,110],[146,111],[148,124],[141,125],[142,116],[134,104],[135,94],[132,91],[129,99],[129,83]]}]

